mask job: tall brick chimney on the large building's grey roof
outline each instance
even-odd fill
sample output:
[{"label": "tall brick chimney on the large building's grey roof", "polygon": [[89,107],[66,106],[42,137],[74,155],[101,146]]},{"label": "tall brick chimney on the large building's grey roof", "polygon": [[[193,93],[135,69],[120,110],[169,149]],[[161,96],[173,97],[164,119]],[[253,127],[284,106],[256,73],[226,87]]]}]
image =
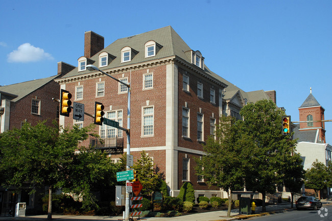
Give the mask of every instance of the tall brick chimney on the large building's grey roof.
[{"label": "tall brick chimney on the large building's grey roof", "polygon": [[92,31],[84,33],[84,57],[91,58],[104,49],[104,37]]}]

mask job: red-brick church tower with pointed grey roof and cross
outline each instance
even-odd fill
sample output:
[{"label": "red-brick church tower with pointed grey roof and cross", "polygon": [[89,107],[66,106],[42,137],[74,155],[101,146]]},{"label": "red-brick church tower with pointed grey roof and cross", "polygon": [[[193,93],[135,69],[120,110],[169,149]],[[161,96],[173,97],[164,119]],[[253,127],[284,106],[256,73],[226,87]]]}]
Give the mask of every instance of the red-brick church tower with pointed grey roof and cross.
[{"label": "red-brick church tower with pointed grey roof and cross", "polygon": [[[300,121],[309,121],[313,120],[314,122],[300,122],[299,131],[309,131],[315,130],[316,133],[316,142],[321,141],[326,143],[325,141],[325,124],[321,120],[324,119],[324,111],[325,109],[320,106],[320,104],[315,99],[312,94],[310,88],[310,94],[305,99],[301,107],[299,109]],[[318,121],[318,122],[315,122]]]}]

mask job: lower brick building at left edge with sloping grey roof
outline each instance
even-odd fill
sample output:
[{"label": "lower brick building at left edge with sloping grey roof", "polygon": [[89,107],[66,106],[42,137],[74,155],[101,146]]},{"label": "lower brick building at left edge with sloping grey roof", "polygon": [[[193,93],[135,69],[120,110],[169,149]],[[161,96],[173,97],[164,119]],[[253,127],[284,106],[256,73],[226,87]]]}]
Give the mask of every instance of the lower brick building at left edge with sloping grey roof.
[{"label": "lower brick building at left edge with sloping grey roof", "polygon": [[[59,62],[58,75],[7,86],[0,86],[0,132],[14,128],[21,128],[29,122],[35,126],[37,122],[47,120],[46,125],[52,126],[53,120],[59,120],[59,103],[52,98],[59,99],[60,86],[54,81],[68,71],[72,65]],[[34,194],[22,191],[13,192],[15,188],[0,188],[0,214],[15,206],[4,202],[27,202],[27,208],[34,207]]]}]

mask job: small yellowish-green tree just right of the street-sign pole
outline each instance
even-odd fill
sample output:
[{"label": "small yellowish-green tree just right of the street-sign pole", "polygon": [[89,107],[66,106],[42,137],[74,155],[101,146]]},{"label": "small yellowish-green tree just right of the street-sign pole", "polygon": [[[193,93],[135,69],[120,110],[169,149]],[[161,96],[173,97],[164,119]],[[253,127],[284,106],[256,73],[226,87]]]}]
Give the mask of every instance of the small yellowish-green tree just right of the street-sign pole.
[{"label": "small yellowish-green tree just right of the street-sign pole", "polygon": [[138,180],[143,186],[141,193],[151,197],[152,192],[158,190],[160,174],[153,168],[153,161],[145,151],[140,153],[140,159],[133,168],[138,172]]}]

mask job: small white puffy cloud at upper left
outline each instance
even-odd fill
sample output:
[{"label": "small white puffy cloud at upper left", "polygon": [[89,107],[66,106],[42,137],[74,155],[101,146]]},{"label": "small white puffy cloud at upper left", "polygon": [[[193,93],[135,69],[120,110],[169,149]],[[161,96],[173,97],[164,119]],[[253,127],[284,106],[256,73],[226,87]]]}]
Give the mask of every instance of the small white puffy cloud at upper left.
[{"label": "small white puffy cloud at upper left", "polygon": [[53,60],[51,54],[44,52],[44,50],[40,47],[35,47],[31,45],[30,43],[24,43],[19,45],[17,50],[14,50],[13,52],[9,53],[7,55],[8,59],[7,61],[10,63],[13,62],[36,62],[41,60]]}]

